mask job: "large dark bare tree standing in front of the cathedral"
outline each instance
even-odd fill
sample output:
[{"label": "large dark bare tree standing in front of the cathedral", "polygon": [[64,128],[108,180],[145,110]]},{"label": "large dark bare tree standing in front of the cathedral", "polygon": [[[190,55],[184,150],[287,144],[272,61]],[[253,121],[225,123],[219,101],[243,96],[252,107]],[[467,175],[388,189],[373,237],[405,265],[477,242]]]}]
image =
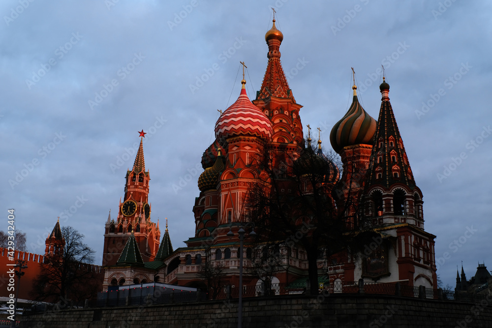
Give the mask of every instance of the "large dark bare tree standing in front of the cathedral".
[{"label": "large dark bare tree standing in front of the cathedral", "polygon": [[[309,143],[299,155],[289,149],[265,149],[251,164],[258,179],[247,193],[248,219],[258,241],[287,241],[307,253],[310,293],[318,293],[318,249],[326,257],[356,249],[362,217],[358,197],[363,185],[357,175],[338,181],[339,169]],[[333,156],[333,154],[332,154]]]}]

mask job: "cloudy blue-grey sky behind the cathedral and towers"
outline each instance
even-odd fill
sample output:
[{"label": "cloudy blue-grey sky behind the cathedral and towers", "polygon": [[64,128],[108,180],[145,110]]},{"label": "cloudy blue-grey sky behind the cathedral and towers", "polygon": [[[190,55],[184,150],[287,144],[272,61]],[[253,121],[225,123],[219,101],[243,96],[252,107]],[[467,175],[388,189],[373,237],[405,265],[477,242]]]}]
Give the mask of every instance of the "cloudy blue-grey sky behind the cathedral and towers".
[{"label": "cloudy blue-grey sky behind the cathedral and towers", "polygon": [[240,60],[251,99],[260,88],[276,7],[303,124],[331,148],[351,103],[350,67],[377,119],[383,64],[438,273],[454,286],[461,261],[468,278],[479,261],[492,269],[490,1],[164,2],[1,1],[2,229],[15,209],[29,251],[44,253],[61,216],[101,263],[141,129],[152,219],[163,228],[169,218],[173,246],[184,246],[217,110],[239,95]]}]

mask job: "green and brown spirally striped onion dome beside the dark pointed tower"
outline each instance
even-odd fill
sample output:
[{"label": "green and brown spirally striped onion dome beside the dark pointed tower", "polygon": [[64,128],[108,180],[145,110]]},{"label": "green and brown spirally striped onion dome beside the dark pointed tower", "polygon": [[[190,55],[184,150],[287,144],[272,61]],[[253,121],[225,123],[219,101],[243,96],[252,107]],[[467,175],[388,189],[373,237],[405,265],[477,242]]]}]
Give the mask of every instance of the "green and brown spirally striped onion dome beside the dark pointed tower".
[{"label": "green and brown spirally striped onion dome beside the dark pointed tower", "polygon": [[354,89],[352,105],[330,132],[330,142],[333,149],[338,153],[347,146],[372,145],[374,132],[376,131],[376,120],[359,103],[357,87],[354,85],[352,89]]}]

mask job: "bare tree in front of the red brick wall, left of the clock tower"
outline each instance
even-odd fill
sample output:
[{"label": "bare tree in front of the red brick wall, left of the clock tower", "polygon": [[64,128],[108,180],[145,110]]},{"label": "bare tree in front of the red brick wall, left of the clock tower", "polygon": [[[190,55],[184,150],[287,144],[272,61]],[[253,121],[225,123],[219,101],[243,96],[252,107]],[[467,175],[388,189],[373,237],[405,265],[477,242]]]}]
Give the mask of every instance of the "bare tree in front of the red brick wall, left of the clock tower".
[{"label": "bare tree in front of the red brick wall, left of the clock tower", "polygon": [[94,251],[83,243],[84,235],[73,227],[62,227],[65,241],[60,254],[45,256],[33,281],[31,295],[43,301],[83,301],[96,295],[98,272],[92,271]]}]

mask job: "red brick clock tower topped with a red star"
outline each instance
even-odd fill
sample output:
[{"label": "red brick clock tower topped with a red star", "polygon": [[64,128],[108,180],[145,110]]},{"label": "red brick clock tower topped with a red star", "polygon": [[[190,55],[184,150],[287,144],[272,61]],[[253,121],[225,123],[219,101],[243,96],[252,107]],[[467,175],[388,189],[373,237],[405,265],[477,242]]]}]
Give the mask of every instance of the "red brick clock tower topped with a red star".
[{"label": "red brick clock tower topped with a red star", "polygon": [[140,132],[138,148],[132,170],[126,172],[123,202],[120,200],[116,221],[111,213],[105,224],[103,266],[115,265],[120,258],[123,247],[134,231],[134,239],[142,252],[144,261],[154,260],[159,246],[159,224],[151,221],[149,196],[149,171],[145,171],[143,138]]}]

